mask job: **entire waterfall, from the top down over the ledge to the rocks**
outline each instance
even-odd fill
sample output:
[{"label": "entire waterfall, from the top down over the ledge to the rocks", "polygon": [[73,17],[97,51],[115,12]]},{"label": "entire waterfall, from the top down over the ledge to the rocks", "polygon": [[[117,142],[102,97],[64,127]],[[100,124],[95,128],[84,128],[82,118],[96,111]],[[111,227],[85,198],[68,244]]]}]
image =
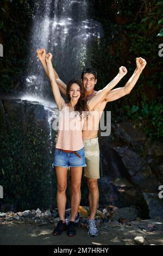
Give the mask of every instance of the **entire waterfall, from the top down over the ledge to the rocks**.
[{"label": "entire waterfall, from the top down over the ledge to the rocks", "polygon": [[[26,186],[22,185],[24,198],[20,197],[16,200],[18,209],[25,207],[20,205],[27,198],[31,205],[35,200],[43,207],[55,205],[53,188],[56,190],[57,180],[54,177],[52,162],[57,131],[53,122],[56,123],[58,120],[58,110],[51,84],[40,60],[36,57],[36,50],[45,47],[47,52],[53,54],[53,66],[65,83],[72,78],[80,78],[89,54],[88,45],[92,41],[98,42],[102,31],[100,23],[89,17],[91,2],[91,0],[34,0],[27,75],[21,77],[11,102],[10,100],[4,102],[5,108],[9,108],[8,113],[14,115],[14,119],[12,115],[9,117],[9,122],[12,124],[12,120],[16,120],[21,124],[20,132],[17,126],[15,128],[18,134],[22,134],[22,139],[18,141],[20,143],[18,150],[21,149],[24,157],[20,164],[21,168],[17,167],[23,177],[21,184],[26,184],[24,175],[30,169],[28,179],[33,188],[33,177],[37,177],[39,173],[39,179],[36,179],[38,193],[35,192],[35,187],[34,190],[31,188],[30,196],[27,197]],[[13,145],[12,154],[20,154],[19,151],[15,153],[12,136],[10,140]],[[12,161],[17,164],[18,161],[15,159],[17,158],[14,155]],[[20,159],[22,160],[22,156]]]}]

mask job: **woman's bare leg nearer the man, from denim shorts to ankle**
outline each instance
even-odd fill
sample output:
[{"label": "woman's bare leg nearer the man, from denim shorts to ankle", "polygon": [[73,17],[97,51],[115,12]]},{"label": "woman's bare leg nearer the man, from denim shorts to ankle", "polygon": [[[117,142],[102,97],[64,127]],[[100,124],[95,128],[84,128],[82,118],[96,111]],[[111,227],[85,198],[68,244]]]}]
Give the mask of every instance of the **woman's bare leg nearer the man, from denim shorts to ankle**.
[{"label": "woman's bare leg nearer the man, from denim shorts to ankle", "polygon": [[81,191],[80,185],[82,180],[83,167],[71,167],[71,220],[75,221],[79,209]]}]

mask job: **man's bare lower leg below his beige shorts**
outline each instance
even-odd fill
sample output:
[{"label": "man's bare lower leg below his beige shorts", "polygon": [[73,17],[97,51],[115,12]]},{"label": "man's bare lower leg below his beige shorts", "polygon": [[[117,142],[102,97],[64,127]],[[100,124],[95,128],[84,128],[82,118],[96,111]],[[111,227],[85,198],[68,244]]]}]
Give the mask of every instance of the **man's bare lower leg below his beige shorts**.
[{"label": "man's bare lower leg below his beige shorts", "polygon": [[99,200],[98,180],[87,178],[87,186],[89,187],[90,219],[94,220]]}]

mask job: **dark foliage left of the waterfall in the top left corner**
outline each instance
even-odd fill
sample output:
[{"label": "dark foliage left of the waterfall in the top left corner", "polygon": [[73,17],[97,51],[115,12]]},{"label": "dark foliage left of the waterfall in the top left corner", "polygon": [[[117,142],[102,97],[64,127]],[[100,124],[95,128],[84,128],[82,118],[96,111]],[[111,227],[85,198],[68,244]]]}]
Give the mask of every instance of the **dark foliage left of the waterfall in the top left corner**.
[{"label": "dark foliage left of the waterfall in the top left corner", "polygon": [[4,52],[0,58],[0,93],[9,93],[26,71],[31,21],[30,1],[0,2],[0,43]]}]

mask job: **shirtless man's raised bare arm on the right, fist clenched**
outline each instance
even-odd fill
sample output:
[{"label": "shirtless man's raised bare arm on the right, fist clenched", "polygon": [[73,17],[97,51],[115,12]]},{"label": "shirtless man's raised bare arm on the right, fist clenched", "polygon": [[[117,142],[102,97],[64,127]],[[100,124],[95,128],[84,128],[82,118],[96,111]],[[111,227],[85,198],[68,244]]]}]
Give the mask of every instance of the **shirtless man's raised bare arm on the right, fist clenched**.
[{"label": "shirtless man's raised bare arm on the right, fist clenched", "polygon": [[116,88],[113,90],[110,90],[110,92],[106,95],[106,101],[114,101],[117,99],[120,99],[121,97],[129,94],[131,90],[134,88],[137,80],[140,77],[140,74],[142,70],[145,68],[147,62],[145,59],[139,57],[136,58],[136,69],[134,71],[134,74],[129,78],[128,82],[124,87]]}]

